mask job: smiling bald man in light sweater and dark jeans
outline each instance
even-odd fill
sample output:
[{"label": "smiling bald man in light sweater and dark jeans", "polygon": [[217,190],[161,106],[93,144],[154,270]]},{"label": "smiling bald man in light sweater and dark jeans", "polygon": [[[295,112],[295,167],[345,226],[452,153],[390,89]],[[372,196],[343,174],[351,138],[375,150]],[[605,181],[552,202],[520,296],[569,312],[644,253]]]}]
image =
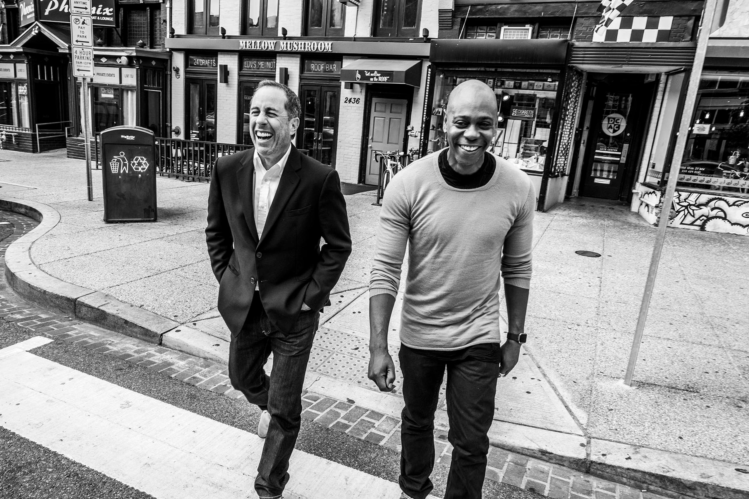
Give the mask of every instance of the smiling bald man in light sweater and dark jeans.
[{"label": "smiling bald man in light sweater and dark jeans", "polygon": [[448,148],[398,172],[385,192],[369,284],[369,378],[393,389],[387,333],[408,242],[398,352],[401,498],[423,499],[433,489],[434,411],[447,372],[453,450],[445,499],[479,499],[497,377],[515,367],[526,339],[536,195],[524,172],[487,152],[497,131],[497,98],[487,85],[455,87],[444,131]]}]

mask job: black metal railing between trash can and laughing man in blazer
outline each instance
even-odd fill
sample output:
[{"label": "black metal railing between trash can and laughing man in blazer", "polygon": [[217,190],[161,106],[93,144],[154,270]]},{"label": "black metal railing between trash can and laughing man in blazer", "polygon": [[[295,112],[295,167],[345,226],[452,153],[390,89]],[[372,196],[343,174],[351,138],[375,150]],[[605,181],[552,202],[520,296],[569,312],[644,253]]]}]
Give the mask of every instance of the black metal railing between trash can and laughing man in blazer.
[{"label": "black metal railing between trash can and laughing man in blazer", "polygon": [[157,172],[183,180],[207,181],[213,163],[216,163],[219,157],[251,147],[252,145],[157,137]]}]

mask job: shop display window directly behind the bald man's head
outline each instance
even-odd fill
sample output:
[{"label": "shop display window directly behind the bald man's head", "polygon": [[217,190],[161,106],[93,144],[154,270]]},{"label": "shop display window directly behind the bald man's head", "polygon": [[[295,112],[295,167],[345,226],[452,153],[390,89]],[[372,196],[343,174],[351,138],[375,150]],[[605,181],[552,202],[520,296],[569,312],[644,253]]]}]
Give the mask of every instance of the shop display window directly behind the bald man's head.
[{"label": "shop display window directly behind the bald man's head", "polygon": [[447,147],[443,121],[449,94],[467,79],[485,82],[497,96],[497,135],[490,151],[522,169],[542,172],[557,105],[559,73],[556,71],[439,71],[434,88],[428,151]]}]

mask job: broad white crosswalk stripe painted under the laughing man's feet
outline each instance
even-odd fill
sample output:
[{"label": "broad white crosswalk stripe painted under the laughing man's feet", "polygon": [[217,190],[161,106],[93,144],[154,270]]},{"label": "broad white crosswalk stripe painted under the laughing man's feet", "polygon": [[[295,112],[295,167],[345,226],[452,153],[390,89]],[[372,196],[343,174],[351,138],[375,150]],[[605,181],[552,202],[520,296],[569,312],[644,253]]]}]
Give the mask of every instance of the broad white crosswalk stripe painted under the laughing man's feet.
[{"label": "broad white crosswalk stripe painted under the laughing man's feet", "polygon": [[[0,423],[157,499],[255,498],[249,432],[23,351],[0,351]],[[294,450],[287,498],[398,498],[395,483]]]}]

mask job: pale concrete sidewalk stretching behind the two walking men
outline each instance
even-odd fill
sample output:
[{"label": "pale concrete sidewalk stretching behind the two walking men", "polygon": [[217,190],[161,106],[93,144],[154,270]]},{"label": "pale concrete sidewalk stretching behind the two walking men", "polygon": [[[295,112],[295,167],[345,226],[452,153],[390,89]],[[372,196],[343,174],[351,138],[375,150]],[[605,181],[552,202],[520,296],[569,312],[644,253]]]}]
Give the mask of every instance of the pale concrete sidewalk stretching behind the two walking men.
[{"label": "pale concrete sidewalk stretching behind the two walking men", "polygon": [[[1,209],[42,215],[7,251],[16,292],[70,317],[225,360],[228,338],[204,249],[207,184],[157,178],[157,223],[105,224],[99,173],[88,202],[82,161],[64,151],[2,151],[0,179]],[[397,391],[372,390],[366,379],[366,284],[379,208],[373,191],[346,201],[354,252],[324,315],[306,389],[397,420]],[[537,214],[531,339],[512,376],[500,380],[492,444],[664,495],[747,497],[749,238],[668,232],[638,386],[625,387],[654,236],[616,203],[574,200]],[[580,249],[602,256],[574,253]],[[306,417],[326,414],[335,416],[306,408]],[[377,443],[396,431],[380,432]],[[444,431],[440,410],[437,433]]]}]

